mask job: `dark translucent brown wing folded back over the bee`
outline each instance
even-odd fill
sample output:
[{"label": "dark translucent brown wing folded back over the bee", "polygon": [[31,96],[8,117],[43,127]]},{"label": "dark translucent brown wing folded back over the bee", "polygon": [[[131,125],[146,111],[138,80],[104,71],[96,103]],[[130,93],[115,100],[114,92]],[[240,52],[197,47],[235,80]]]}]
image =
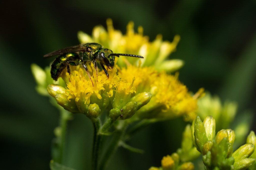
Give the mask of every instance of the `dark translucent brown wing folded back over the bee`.
[{"label": "dark translucent brown wing folded back over the bee", "polygon": [[78,52],[78,51],[84,51],[86,48],[80,44],[80,45],[74,45],[70,47],[66,47],[60,50],[53,51],[49,54],[44,55],[44,57],[51,57],[51,56],[57,56],[65,53],[72,53],[72,52]]}]

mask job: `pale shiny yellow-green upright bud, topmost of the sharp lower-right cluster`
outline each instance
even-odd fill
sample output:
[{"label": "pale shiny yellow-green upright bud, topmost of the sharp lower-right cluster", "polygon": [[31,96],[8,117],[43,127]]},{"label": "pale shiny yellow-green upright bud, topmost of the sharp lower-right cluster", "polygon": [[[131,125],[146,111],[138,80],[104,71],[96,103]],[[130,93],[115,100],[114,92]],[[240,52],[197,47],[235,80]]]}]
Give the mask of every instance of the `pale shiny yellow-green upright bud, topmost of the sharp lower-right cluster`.
[{"label": "pale shiny yellow-green upright bud, topmost of the sharp lower-right cluster", "polygon": [[204,125],[205,125],[205,132],[208,140],[213,140],[215,137],[215,128],[216,128],[216,123],[215,119],[208,115],[206,116],[204,120]]}]

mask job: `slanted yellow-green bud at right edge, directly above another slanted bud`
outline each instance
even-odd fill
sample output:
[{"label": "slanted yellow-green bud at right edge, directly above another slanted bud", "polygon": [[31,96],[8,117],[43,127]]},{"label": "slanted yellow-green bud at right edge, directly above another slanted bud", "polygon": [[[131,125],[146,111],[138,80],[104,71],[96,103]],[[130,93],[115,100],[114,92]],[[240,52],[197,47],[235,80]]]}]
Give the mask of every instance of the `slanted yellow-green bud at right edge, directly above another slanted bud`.
[{"label": "slanted yellow-green bud at right edge, directly above another slanted bud", "polygon": [[252,143],[246,143],[245,145],[238,148],[232,154],[235,162],[240,161],[241,159],[248,158],[254,152],[254,145]]}]

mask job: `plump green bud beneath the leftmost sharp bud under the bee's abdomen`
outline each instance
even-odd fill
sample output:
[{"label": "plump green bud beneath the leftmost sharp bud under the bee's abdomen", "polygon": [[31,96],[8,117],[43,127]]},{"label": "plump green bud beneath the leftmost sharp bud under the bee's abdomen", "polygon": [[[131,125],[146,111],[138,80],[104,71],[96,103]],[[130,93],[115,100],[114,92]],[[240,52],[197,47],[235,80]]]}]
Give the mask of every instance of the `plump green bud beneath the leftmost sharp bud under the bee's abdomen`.
[{"label": "plump green bud beneath the leftmost sharp bud under the bee's abdomen", "polygon": [[78,111],[78,108],[77,108],[77,105],[76,105],[76,102],[71,99],[70,101],[68,101],[68,96],[66,94],[63,94],[63,93],[57,93],[55,95],[55,99],[57,101],[57,103],[62,106],[64,109],[72,112],[72,113],[77,113],[79,112]]}]

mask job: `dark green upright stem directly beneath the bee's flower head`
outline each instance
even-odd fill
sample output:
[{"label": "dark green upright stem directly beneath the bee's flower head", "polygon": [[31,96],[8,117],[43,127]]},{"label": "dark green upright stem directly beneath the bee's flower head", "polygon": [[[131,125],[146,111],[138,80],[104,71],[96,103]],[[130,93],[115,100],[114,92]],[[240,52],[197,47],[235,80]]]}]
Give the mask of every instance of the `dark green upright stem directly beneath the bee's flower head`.
[{"label": "dark green upright stem directly beneath the bee's flower head", "polygon": [[100,119],[91,119],[94,128],[94,135],[93,135],[93,149],[92,149],[92,170],[97,170],[98,168],[98,157],[99,157],[99,148],[101,142],[101,136],[98,135],[101,123]]}]

